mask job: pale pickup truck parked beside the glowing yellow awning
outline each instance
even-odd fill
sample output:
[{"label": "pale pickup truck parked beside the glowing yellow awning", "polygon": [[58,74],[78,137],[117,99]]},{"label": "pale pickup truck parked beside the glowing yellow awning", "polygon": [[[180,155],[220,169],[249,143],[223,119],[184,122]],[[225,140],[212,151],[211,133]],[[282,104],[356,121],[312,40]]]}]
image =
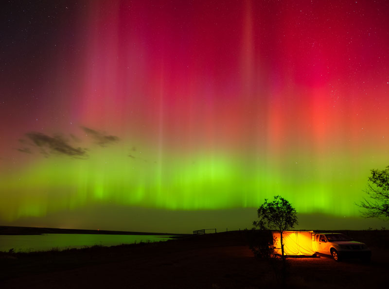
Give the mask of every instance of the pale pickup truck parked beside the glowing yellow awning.
[{"label": "pale pickup truck parked beside the glowing yellow awning", "polygon": [[332,255],[336,262],[347,257],[357,257],[365,262],[371,259],[371,250],[366,244],[340,233],[314,233],[312,241],[317,255]]}]

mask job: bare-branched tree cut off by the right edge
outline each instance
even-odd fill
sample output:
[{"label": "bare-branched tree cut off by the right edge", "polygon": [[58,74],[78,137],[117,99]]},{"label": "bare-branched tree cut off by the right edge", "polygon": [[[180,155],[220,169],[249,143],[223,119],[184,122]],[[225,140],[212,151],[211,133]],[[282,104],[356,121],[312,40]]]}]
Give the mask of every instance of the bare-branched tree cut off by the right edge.
[{"label": "bare-branched tree cut off by the right edge", "polygon": [[371,170],[369,183],[365,190],[368,198],[363,198],[361,208],[365,218],[389,218],[389,166],[385,170]]}]

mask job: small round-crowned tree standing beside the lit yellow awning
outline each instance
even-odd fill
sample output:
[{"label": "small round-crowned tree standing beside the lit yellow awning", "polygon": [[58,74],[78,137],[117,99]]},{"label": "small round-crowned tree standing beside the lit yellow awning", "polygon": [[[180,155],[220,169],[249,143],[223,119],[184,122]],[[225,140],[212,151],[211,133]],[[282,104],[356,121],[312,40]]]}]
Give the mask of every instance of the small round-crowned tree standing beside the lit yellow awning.
[{"label": "small round-crowned tree standing beside the lit yellow awning", "polygon": [[297,212],[292,205],[281,196],[275,196],[273,202],[262,204],[258,209],[258,221],[253,221],[254,227],[260,229],[275,229],[281,235],[281,253],[283,253],[283,232],[298,224]]}]

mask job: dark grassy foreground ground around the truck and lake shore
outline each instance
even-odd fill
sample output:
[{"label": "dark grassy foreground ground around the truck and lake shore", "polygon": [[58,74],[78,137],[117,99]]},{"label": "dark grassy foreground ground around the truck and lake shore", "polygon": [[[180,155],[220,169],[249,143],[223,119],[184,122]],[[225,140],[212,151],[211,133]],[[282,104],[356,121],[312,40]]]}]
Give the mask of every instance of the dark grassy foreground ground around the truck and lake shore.
[{"label": "dark grassy foreground ground around the truck and lake shore", "polygon": [[[371,234],[359,237],[369,240]],[[388,234],[381,235],[371,247],[370,264],[288,258],[287,288],[383,287],[389,251],[381,248]],[[153,244],[2,254],[0,288],[281,288],[278,265],[254,258],[244,232],[229,232]]]}]

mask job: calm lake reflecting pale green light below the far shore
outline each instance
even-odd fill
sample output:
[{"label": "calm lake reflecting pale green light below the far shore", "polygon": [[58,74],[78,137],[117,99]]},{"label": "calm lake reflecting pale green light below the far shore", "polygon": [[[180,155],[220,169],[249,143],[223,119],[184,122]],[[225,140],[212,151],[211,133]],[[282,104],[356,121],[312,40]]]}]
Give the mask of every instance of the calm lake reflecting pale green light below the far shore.
[{"label": "calm lake reflecting pale green light below the far shore", "polygon": [[168,240],[169,236],[154,235],[93,235],[93,234],[45,234],[0,236],[0,251],[15,252],[45,251],[52,248],[64,250],[85,246],[113,246],[135,242],[158,242]]}]

